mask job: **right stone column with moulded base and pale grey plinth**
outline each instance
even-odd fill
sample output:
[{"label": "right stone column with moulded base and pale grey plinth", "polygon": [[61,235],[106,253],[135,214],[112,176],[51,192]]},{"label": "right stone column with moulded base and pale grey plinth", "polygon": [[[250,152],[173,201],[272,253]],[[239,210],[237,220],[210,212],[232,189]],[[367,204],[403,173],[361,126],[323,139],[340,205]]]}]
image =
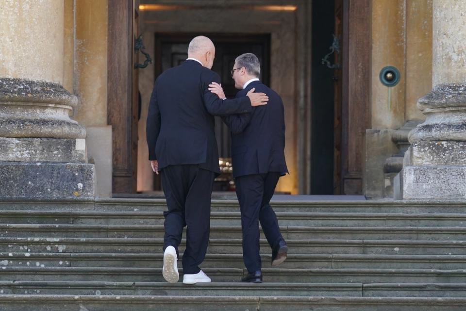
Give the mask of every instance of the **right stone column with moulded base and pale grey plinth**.
[{"label": "right stone column with moulded base and pale grey plinth", "polygon": [[433,1],[433,90],[409,134],[404,199],[466,199],[466,1]]}]

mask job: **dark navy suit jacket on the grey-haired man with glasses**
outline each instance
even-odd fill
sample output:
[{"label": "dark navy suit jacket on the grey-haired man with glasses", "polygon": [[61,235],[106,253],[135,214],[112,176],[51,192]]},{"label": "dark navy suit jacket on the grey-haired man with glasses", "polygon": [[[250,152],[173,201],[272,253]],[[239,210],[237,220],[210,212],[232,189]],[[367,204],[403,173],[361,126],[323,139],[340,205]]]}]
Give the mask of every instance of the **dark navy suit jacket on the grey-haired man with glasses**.
[{"label": "dark navy suit jacket on the grey-haired man with glasses", "polygon": [[253,81],[236,94],[242,98],[254,92],[266,93],[268,103],[247,114],[222,117],[232,132],[233,177],[267,172],[288,173],[285,163],[285,119],[280,96],[260,81]]}]

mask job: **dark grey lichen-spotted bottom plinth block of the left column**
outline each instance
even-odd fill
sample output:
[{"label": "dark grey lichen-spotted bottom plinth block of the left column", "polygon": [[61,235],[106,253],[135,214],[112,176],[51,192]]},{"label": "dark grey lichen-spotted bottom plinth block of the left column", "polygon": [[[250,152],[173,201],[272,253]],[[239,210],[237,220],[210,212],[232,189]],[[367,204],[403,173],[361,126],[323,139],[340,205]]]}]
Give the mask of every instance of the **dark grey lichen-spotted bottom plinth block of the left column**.
[{"label": "dark grey lichen-spotted bottom plinth block of the left column", "polygon": [[0,163],[0,199],[93,198],[94,164]]}]

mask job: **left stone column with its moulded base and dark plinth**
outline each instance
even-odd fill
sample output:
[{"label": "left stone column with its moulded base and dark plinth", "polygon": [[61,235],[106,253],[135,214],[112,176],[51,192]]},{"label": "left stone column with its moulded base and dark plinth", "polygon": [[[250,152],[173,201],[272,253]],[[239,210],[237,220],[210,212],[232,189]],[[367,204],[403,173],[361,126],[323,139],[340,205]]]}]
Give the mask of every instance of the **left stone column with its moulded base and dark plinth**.
[{"label": "left stone column with its moulded base and dark plinth", "polygon": [[64,2],[0,7],[0,199],[93,197],[78,98],[61,85]]}]

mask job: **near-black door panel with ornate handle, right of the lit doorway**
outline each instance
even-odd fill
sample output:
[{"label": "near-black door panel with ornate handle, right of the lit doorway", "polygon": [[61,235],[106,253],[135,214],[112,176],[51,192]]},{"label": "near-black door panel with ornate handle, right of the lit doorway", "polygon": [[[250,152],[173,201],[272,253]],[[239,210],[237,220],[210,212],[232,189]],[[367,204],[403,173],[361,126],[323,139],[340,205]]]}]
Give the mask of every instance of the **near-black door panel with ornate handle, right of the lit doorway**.
[{"label": "near-black door panel with ornate handle, right of the lit doorway", "polygon": [[344,0],[313,1],[311,187],[342,194]]}]

